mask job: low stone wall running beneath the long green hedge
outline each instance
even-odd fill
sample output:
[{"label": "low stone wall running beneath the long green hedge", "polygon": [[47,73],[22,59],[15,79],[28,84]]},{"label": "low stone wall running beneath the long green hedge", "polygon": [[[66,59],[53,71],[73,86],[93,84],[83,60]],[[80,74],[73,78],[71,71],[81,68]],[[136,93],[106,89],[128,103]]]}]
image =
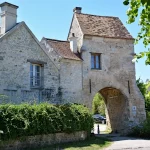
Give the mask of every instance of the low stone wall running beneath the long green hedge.
[{"label": "low stone wall running beneath the long green hedge", "polygon": [[36,135],[21,137],[18,140],[0,142],[0,150],[23,150],[29,148],[44,147],[58,143],[66,143],[73,141],[85,140],[87,138],[86,131],[78,131],[75,133],[55,133],[48,135]]}]

